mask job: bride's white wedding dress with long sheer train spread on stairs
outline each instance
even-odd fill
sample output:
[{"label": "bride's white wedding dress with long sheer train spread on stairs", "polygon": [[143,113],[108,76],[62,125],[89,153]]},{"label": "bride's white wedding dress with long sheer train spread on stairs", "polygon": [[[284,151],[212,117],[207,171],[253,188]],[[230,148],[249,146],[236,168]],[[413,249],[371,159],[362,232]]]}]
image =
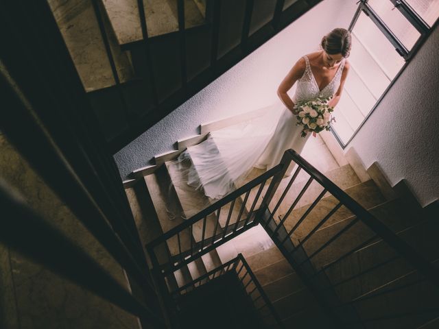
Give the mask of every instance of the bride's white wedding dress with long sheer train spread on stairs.
[{"label": "bride's white wedding dress with long sheer train spread on stairs", "polygon": [[[331,97],[340,86],[345,60],[327,86],[318,87],[309,59],[305,73],[296,82],[292,100],[309,101],[316,97]],[[204,195],[219,199],[240,186],[252,167],[270,169],[281,161],[287,149],[300,154],[310,133],[300,136],[302,127],[283,103],[274,103],[260,117],[211,132],[206,140],[188,147],[178,158],[181,170],[185,171],[187,184],[202,188]],[[291,174],[294,164],[287,170]]]}]

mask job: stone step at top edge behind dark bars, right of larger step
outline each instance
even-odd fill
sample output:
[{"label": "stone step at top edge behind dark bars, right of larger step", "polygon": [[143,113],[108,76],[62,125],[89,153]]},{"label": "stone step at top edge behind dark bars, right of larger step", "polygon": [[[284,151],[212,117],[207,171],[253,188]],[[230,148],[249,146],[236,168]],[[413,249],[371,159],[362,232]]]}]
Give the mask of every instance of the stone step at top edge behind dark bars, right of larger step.
[{"label": "stone step at top edge behind dark bars, right of larger step", "polygon": [[[103,0],[119,45],[143,39],[139,8],[135,0]],[[177,1],[145,1],[148,37],[178,31]],[[204,24],[204,16],[193,0],[185,1],[185,27]]]}]

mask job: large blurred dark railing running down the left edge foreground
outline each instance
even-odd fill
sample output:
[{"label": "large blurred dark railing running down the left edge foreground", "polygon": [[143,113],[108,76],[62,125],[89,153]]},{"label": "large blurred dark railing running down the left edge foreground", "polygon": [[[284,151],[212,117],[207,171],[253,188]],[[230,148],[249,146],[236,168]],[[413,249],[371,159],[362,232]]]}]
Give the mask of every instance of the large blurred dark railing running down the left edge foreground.
[{"label": "large blurred dark railing running down the left edge foreground", "polygon": [[[1,225],[4,226],[1,241],[8,241],[21,252],[32,252],[32,258],[44,261],[57,273],[121,308],[136,315],[141,313],[145,326],[156,321],[162,310],[119,171],[99,132],[99,123],[47,1],[3,1],[0,4],[0,36],[3,40],[0,90],[3,103],[7,104],[7,109],[0,110],[2,134],[41,178],[41,184],[50,188],[71,210],[78,225],[83,225],[96,243],[121,265],[128,276],[132,295],[147,308],[142,308],[119,286],[112,288],[108,273],[105,276],[101,272],[102,280],[99,280],[99,270],[87,263],[84,255],[73,249],[69,251],[72,245],[67,241],[66,245],[62,244],[64,236],[59,236],[60,241],[56,238],[58,232],[50,231],[49,234],[44,226],[31,230],[31,223],[29,226],[25,223],[32,215],[29,212],[23,215],[19,206],[14,206],[14,212],[1,209]],[[10,207],[10,201],[5,200],[5,207]],[[8,223],[14,220],[23,224],[23,232]],[[39,225],[37,220],[32,227]],[[25,230],[35,236],[23,239]],[[40,234],[43,231],[47,235]],[[35,239],[51,243],[52,248],[44,243],[32,243]],[[62,245],[64,252],[72,258],[56,259]],[[43,250],[43,246],[47,248]],[[47,255],[43,255],[44,252]],[[94,269],[93,275],[87,272],[80,259]],[[70,262],[78,267],[71,268]],[[67,269],[71,273],[67,273]],[[105,289],[101,285],[103,282]]]}]

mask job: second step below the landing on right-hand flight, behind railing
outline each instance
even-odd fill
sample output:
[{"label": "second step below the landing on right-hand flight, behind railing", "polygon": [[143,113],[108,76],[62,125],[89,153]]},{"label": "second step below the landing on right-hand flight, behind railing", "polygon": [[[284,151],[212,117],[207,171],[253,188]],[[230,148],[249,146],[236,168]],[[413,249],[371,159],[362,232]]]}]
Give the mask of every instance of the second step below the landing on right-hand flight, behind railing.
[{"label": "second step below the landing on right-hand flight, behind railing", "polygon": [[[366,209],[370,209],[379,204],[383,204],[385,202],[384,196],[379,191],[379,188],[375,185],[372,180],[368,180],[367,182],[362,182],[351,188],[346,188],[345,192],[350,195],[355,201],[357,201],[361,206]],[[315,208],[309,212],[305,221],[303,221],[297,230],[294,232],[294,236],[296,238],[300,238],[302,236],[306,236],[320,221],[338,204],[338,199],[333,197],[332,195],[329,197],[324,197],[318,202]],[[285,207],[285,206],[284,206]],[[302,206],[300,208],[295,208],[288,219],[285,221],[284,226],[287,232],[289,232],[297,221],[302,217],[302,215],[309,208],[309,204],[307,206]],[[287,212],[287,208],[284,208],[285,212]],[[285,214],[285,212],[282,212]],[[323,224],[322,228],[326,226],[330,226],[334,223],[344,221],[352,217],[353,214],[351,210],[348,210],[345,206],[341,206],[327,221]],[[281,217],[283,218],[283,217]],[[274,217],[274,220],[278,223],[280,221],[279,218]]]}]

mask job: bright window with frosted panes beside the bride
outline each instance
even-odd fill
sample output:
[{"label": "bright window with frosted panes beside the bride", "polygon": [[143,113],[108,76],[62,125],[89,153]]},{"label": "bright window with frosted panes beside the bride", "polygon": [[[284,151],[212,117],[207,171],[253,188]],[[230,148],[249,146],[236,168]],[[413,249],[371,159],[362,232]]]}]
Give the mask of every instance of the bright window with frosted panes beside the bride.
[{"label": "bright window with frosted panes beside the bride", "polygon": [[333,133],[345,147],[436,25],[439,0],[361,0]]}]

